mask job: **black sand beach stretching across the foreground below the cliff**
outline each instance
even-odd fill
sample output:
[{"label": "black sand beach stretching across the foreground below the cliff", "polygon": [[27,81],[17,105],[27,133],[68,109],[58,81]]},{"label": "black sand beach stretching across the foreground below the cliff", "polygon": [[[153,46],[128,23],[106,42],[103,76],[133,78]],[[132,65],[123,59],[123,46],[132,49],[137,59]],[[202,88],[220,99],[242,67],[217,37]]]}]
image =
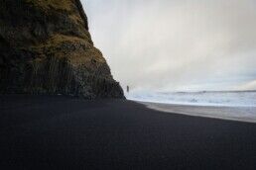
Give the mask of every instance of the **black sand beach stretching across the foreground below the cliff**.
[{"label": "black sand beach stretching across the foreground below the cliff", "polygon": [[256,169],[256,124],[124,100],[0,97],[0,169]]}]

